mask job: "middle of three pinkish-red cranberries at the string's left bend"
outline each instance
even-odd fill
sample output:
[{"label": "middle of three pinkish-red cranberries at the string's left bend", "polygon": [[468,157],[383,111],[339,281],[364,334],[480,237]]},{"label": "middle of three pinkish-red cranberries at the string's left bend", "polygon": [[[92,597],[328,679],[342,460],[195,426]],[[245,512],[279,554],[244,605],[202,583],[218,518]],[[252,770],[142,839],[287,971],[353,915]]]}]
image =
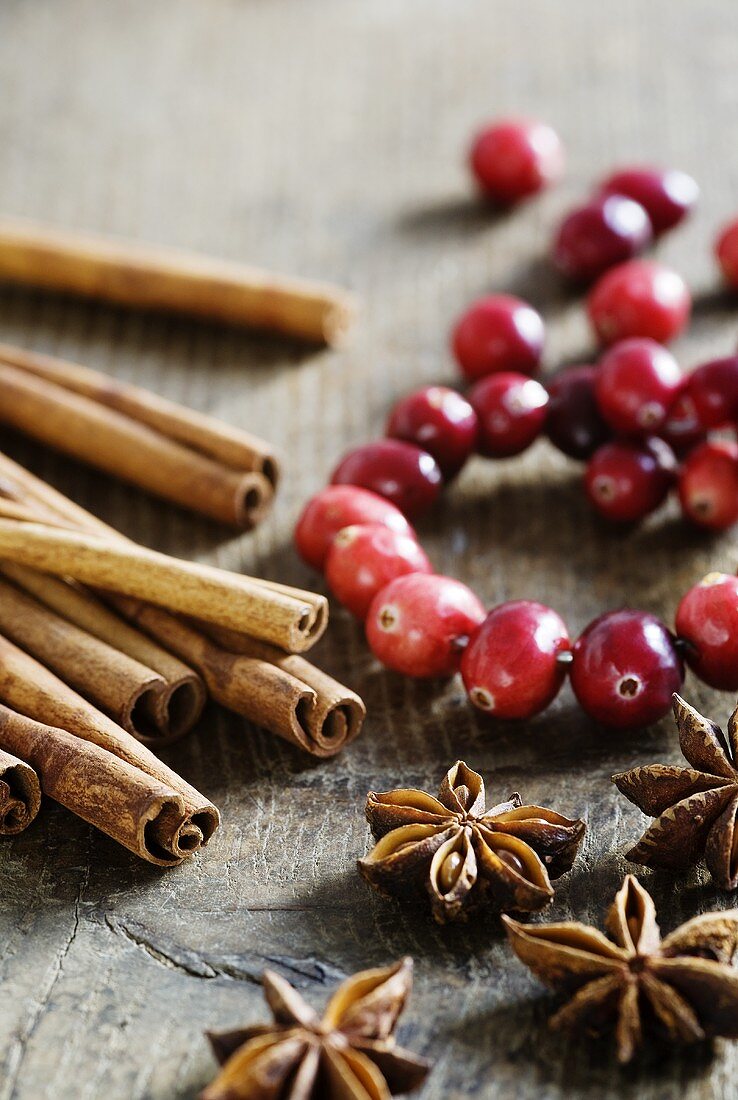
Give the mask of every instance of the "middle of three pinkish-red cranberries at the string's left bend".
[{"label": "middle of three pinkish-red cranberries at the string's left bend", "polygon": [[364,619],[377,592],[405,573],[432,573],[425,551],[409,535],[378,524],[353,524],[333,539],[326,580],[344,607]]}]

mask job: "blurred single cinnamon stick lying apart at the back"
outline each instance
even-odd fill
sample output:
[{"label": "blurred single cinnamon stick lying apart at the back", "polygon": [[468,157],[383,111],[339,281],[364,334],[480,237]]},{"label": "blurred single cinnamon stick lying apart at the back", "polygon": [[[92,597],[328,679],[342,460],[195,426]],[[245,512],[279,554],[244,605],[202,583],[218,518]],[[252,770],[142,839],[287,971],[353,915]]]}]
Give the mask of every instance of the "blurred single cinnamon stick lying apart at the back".
[{"label": "blurred single cinnamon stick lying apart at the back", "polygon": [[0,279],[329,344],[355,310],[327,283],[9,218],[0,220]]}]

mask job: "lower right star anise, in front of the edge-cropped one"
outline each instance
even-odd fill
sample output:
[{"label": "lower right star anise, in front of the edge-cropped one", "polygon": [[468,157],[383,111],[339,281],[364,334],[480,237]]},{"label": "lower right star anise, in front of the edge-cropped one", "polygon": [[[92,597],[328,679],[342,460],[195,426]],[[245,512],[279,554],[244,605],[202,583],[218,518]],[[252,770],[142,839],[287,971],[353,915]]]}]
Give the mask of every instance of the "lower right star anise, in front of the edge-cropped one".
[{"label": "lower right star anise, in front of the edge-cropped one", "polygon": [[585,924],[524,925],[503,917],[513,950],[568,994],[557,1030],[615,1032],[620,1062],[645,1034],[672,1043],[738,1038],[738,910],[705,913],[661,939],[651,897],[629,875],[607,915],[610,938]]}]

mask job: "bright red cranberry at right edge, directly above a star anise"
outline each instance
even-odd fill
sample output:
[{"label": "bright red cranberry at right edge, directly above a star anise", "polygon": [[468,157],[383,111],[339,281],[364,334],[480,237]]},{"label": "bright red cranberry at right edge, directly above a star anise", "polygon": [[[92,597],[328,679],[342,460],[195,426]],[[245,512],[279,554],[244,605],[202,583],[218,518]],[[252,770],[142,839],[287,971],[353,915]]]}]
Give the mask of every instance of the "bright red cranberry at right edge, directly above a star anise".
[{"label": "bright red cranberry at right edge, directly above a star anise", "polygon": [[686,662],[719,691],[738,691],[738,578],[708,573],[676,608]]}]

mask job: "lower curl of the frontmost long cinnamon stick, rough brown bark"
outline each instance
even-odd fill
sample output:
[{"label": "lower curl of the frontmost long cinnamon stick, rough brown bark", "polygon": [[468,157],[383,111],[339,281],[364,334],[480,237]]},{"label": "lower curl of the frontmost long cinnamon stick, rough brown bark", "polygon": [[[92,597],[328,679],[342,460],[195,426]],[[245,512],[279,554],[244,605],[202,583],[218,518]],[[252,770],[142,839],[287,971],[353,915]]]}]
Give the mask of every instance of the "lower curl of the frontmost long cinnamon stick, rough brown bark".
[{"label": "lower curl of the frontmost long cinnamon stick, rough brown bark", "polygon": [[32,762],[44,794],[150,864],[175,867],[198,847],[181,794],[98,745],[0,704],[0,746]]}]

